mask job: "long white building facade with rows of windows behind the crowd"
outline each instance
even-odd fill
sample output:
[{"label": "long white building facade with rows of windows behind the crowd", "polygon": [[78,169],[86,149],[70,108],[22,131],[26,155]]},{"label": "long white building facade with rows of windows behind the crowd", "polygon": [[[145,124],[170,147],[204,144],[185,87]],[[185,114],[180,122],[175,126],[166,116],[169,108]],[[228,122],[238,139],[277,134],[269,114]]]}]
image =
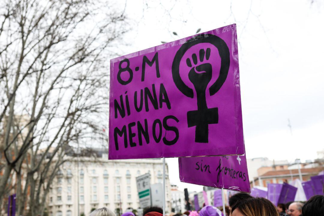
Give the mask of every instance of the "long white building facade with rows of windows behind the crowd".
[{"label": "long white building facade with rows of windows behind the crowd", "polygon": [[[150,173],[151,184],[162,183],[162,171],[161,159],[108,160],[107,154],[101,158],[73,157],[53,180],[47,210],[50,216],[88,215],[92,209],[102,207],[117,214],[137,210],[140,206],[136,177]],[[167,212],[171,210],[170,200],[166,175]]]}]

